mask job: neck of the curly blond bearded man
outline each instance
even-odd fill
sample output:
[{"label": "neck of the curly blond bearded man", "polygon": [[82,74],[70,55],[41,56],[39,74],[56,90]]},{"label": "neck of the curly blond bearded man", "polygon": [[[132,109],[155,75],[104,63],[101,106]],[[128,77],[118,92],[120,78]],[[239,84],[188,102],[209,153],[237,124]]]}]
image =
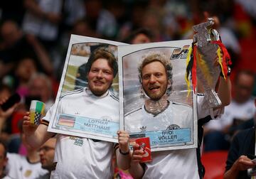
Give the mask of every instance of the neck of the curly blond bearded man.
[{"label": "neck of the curly blond bearded man", "polygon": [[146,99],[145,109],[149,113],[158,114],[163,112],[164,109],[168,106],[169,102],[167,101],[166,94],[161,97],[159,100]]}]

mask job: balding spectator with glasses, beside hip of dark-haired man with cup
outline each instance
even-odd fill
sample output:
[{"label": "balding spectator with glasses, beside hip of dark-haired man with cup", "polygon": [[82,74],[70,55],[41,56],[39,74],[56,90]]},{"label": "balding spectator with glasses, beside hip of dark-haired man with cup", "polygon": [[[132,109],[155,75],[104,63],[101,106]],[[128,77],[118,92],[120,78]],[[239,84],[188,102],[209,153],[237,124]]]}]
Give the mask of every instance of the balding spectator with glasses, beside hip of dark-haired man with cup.
[{"label": "balding spectator with glasses, beside hip of dark-haired man with cup", "polygon": [[43,175],[40,179],[50,178],[51,170],[54,170],[55,165],[53,163],[55,152],[56,139],[50,138],[39,148],[39,156],[41,159],[42,168],[49,171],[46,175]]}]

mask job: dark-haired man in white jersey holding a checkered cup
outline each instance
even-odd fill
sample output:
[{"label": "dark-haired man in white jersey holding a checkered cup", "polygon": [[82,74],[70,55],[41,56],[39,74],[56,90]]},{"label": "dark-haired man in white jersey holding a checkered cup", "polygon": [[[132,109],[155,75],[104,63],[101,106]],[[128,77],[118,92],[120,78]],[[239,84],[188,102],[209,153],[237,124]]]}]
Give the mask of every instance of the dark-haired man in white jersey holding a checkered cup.
[{"label": "dark-haired man in white jersey holding a checkered cup", "polygon": [[[92,55],[87,63],[88,87],[63,94],[58,113],[119,122],[119,102],[109,90],[117,74],[117,61],[106,48],[97,48]],[[47,131],[51,115],[53,107],[38,127],[31,126],[28,114],[24,116],[23,129],[31,146],[39,147],[54,135]],[[56,137],[50,178],[112,178],[114,143],[63,134]]]}]

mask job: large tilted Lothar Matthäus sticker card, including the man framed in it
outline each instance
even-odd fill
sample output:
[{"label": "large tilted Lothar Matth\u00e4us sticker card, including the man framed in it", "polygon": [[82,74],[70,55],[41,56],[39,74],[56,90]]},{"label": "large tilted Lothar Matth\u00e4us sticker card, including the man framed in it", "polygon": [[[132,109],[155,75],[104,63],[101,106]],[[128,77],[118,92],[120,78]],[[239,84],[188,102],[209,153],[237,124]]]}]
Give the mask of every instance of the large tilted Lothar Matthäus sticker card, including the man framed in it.
[{"label": "large tilted Lothar Matth\u00e4us sticker card, including the man framed in it", "polygon": [[[85,36],[70,37],[48,131],[117,142],[119,80],[115,74],[118,74],[118,45],[123,43]],[[110,67],[109,62],[92,61],[100,50],[107,50],[114,59],[112,69],[115,77],[110,75],[111,70],[103,68]],[[96,68],[93,66],[95,64]],[[102,90],[100,87],[107,88],[107,92],[98,96]]]}]

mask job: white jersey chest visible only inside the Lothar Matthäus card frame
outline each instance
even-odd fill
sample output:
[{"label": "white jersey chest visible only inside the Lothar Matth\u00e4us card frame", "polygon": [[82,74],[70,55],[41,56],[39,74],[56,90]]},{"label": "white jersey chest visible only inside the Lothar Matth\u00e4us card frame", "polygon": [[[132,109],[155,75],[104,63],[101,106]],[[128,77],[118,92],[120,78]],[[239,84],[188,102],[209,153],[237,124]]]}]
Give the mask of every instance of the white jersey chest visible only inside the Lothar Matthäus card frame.
[{"label": "white jersey chest visible only inside the Lothar Matth\u00e4us card frame", "polygon": [[60,97],[58,113],[119,122],[118,101],[110,91],[97,97],[88,88],[77,89]]}]

